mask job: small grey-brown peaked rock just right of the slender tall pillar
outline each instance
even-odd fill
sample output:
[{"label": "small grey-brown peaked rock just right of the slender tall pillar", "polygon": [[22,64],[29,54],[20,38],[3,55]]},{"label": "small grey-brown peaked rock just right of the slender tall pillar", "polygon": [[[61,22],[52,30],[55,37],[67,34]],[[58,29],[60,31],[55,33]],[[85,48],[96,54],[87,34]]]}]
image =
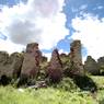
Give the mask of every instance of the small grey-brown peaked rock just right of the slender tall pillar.
[{"label": "small grey-brown peaked rock just right of the slender tall pillar", "polygon": [[84,70],[91,74],[100,74],[97,62],[91,56],[84,62]]}]

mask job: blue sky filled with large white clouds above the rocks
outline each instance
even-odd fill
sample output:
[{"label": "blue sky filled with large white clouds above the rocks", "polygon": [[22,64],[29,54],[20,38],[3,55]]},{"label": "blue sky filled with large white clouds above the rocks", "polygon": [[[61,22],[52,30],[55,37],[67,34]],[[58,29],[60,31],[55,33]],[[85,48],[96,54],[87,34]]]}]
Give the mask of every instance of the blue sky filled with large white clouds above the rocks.
[{"label": "blue sky filled with large white clouds above the rocks", "polygon": [[104,56],[104,0],[0,0],[0,50],[37,42],[50,56],[56,47],[69,53],[73,39],[81,39],[83,59]]}]

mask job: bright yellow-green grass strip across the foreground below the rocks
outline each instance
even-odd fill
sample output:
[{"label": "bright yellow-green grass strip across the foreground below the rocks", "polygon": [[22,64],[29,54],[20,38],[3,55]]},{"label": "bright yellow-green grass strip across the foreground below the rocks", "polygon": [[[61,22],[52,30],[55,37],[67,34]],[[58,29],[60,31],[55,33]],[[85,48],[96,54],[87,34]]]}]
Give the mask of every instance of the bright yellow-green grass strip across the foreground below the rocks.
[{"label": "bright yellow-green grass strip across the foreground below the rocks", "polygon": [[0,86],[0,104],[97,104],[89,92],[63,91],[54,88],[20,92],[12,86]]}]

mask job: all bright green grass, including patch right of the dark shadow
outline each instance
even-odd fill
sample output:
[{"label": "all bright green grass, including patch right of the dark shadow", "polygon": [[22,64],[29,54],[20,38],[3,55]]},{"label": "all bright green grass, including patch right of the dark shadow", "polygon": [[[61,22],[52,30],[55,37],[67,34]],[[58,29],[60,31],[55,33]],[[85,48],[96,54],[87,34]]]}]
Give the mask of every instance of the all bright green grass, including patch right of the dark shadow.
[{"label": "all bright green grass, including patch right of the dark shadow", "polygon": [[[104,77],[91,77],[99,88],[103,85]],[[0,86],[0,104],[104,104],[104,89],[99,89],[95,96],[88,91],[74,90],[68,86],[68,79],[58,89],[23,89],[21,92],[11,85]],[[61,85],[63,88],[61,88]],[[66,89],[68,90],[66,91]],[[72,90],[69,90],[73,88]]]}]

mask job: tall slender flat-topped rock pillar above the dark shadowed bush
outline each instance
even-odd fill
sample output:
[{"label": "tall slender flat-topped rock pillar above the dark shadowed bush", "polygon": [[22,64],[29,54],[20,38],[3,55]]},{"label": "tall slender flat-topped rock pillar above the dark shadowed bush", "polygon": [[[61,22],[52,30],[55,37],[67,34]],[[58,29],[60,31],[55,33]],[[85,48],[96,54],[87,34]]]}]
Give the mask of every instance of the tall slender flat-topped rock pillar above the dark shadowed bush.
[{"label": "tall slender flat-topped rock pillar above the dark shadowed bush", "polygon": [[83,76],[83,65],[81,56],[81,42],[73,41],[70,47],[70,63],[71,63],[71,74]]}]

